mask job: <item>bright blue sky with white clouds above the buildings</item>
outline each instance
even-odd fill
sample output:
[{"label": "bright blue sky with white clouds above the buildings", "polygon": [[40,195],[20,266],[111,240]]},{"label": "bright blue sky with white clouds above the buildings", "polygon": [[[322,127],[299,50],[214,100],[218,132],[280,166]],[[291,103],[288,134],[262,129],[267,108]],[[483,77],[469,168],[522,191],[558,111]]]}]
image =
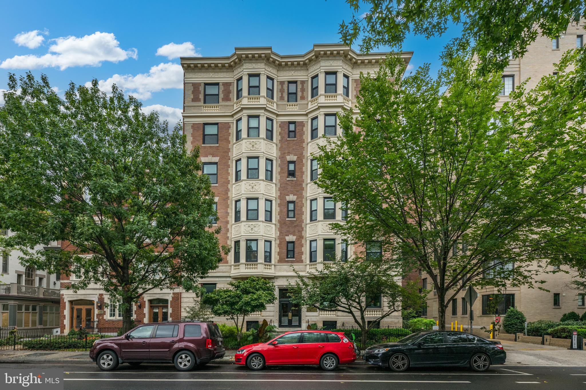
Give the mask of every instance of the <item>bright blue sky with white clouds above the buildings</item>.
[{"label": "bright blue sky with white clouds above the buildings", "polygon": [[[6,88],[9,72],[45,73],[58,91],[71,81],[85,84],[97,78],[103,88],[116,82],[172,121],[182,107],[182,73],[175,56],[227,56],[235,46],[305,53],[314,43],[339,42],[338,25],[352,15],[343,0],[2,0],[0,5],[9,16],[0,25],[0,89]],[[430,40],[408,37],[403,49],[414,51],[411,64],[431,63],[437,70],[440,51],[456,30]]]}]

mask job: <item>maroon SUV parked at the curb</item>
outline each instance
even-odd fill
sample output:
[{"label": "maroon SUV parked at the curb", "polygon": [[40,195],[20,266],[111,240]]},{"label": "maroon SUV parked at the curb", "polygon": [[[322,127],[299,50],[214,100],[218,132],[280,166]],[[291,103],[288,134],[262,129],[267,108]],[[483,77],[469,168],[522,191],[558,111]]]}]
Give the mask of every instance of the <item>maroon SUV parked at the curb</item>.
[{"label": "maroon SUV parked at the curb", "polygon": [[212,322],[169,321],[135,327],[118,337],[96,340],[90,358],[100,370],[111,371],[120,363],[173,362],[179,371],[206,365],[224,357],[222,332]]}]

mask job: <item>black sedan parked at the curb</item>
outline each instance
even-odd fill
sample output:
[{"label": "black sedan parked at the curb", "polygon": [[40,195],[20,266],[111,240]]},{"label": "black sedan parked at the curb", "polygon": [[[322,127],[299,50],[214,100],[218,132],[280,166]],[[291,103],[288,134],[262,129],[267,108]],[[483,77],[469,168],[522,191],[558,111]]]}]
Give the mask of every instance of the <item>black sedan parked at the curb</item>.
[{"label": "black sedan parked at the curb", "polygon": [[409,367],[460,366],[486,371],[505,364],[507,354],[495,340],[462,332],[417,332],[396,343],[378,344],[364,351],[366,363],[405,371]]}]

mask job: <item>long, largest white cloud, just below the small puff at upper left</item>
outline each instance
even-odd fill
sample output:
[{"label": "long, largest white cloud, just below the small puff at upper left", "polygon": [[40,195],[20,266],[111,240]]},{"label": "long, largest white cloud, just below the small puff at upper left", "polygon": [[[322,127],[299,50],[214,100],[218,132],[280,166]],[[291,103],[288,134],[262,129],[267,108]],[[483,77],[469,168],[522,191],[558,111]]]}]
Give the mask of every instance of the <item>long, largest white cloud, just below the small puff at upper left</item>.
[{"label": "long, largest white cloud, just below the small puff at upper left", "polygon": [[[104,61],[117,63],[127,58],[137,59],[137,49],[123,50],[112,33],[95,32],[83,37],[52,39],[49,53],[43,56],[27,54],[4,60],[0,68],[37,69],[56,67],[64,70],[73,66],[100,66]],[[56,54],[51,54],[56,53]]]}]

